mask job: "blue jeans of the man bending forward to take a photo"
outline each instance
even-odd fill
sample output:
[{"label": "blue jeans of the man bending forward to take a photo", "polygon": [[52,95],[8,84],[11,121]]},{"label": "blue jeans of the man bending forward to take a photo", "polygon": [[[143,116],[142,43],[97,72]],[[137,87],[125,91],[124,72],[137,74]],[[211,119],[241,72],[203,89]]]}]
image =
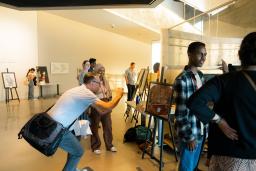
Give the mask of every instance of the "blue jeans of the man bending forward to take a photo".
[{"label": "blue jeans of the man bending forward to take a photo", "polygon": [[59,147],[68,152],[67,161],[63,171],[76,171],[77,164],[84,154],[84,150],[77,138],[70,131],[67,131],[63,136]]}]

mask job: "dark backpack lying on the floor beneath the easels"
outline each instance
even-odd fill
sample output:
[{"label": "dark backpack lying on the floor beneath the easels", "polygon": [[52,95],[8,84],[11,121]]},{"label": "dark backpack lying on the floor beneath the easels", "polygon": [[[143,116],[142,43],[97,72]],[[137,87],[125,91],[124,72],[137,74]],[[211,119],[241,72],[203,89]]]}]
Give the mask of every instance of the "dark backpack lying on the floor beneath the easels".
[{"label": "dark backpack lying on the floor beneath the easels", "polygon": [[[148,132],[148,137],[147,136]],[[129,128],[124,134],[124,142],[136,142],[138,144],[144,143],[147,138],[151,139],[151,130],[145,126],[138,125],[132,128]]]}]

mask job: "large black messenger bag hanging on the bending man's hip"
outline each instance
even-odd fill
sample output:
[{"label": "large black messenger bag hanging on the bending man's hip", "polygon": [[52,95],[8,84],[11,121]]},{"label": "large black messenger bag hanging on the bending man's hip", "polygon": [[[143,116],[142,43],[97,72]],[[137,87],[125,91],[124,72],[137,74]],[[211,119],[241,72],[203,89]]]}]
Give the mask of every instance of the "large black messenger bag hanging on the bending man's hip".
[{"label": "large black messenger bag hanging on the bending man's hip", "polygon": [[34,115],[22,127],[18,133],[18,139],[24,138],[39,152],[46,156],[52,156],[69,127],[63,127],[61,123],[53,120],[46,112],[42,112]]}]

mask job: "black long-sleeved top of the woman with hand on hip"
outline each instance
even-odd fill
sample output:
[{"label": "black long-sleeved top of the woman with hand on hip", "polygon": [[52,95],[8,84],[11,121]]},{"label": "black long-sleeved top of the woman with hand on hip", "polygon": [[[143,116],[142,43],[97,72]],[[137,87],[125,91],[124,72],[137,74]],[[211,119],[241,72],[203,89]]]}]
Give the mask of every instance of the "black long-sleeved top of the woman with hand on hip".
[{"label": "black long-sleeved top of the woman with hand on hip", "polygon": [[[245,71],[256,82],[256,71]],[[207,102],[214,102],[210,110]],[[191,96],[188,108],[203,123],[215,113],[238,132],[239,140],[228,139],[217,124],[210,130],[209,146],[213,155],[256,159],[256,91],[241,71],[217,76]]]}]

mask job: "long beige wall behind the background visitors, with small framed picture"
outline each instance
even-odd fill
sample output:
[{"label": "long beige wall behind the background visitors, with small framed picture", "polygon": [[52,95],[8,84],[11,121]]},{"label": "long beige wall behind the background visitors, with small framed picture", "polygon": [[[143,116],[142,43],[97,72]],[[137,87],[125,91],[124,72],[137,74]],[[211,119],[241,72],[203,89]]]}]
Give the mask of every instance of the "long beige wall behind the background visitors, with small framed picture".
[{"label": "long beige wall behind the background visitors, with small framed picture", "polygon": [[[50,81],[60,83],[60,92],[77,85],[77,68],[90,57],[109,74],[123,74],[132,61],[138,70],[151,64],[151,44],[46,12],[38,12],[38,50],[39,65],[48,67]],[[51,74],[51,62],[69,63],[69,73]]]}]

